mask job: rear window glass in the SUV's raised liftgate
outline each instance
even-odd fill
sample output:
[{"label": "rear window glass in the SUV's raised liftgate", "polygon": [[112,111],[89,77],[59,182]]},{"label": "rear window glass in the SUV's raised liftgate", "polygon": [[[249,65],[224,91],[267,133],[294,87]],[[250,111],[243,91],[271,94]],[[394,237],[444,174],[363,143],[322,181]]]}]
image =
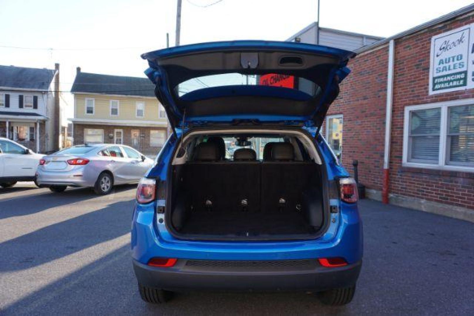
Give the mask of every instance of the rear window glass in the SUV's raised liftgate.
[{"label": "rear window glass in the SUV's raised liftgate", "polygon": [[317,96],[321,92],[321,88],[317,84],[300,77],[278,73],[252,75],[237,72],[192,78],[178,84],[175,89],[178,96],[181,97],[195,90],[235,85],[280,87],[299,90],[310,96]]}]

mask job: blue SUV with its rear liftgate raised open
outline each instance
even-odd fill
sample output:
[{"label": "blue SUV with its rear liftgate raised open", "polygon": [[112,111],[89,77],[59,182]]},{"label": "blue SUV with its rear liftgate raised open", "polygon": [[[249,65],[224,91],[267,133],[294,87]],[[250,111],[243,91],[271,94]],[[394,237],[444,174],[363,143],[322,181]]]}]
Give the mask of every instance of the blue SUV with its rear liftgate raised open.
[{"label": "blue SUV with its rear liftgate raised open", "polygon": [[352,300],[357,187],[319,131],[354,55],[267,41],[142,55],[173,131],[137,188],[131,246],[143,300],[201,289]]}]

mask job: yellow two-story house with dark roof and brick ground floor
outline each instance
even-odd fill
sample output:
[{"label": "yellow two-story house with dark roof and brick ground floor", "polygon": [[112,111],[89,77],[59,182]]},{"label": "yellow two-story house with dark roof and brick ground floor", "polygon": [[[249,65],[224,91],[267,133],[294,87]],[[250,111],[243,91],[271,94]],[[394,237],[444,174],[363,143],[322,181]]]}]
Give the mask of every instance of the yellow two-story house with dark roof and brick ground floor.
[{"label": "yellow two-story house with dark roof and brick ground floor", "polygon": [[81,72],[74,95],[73,144],[126,144],[156,154],[167,136],[163,106],[147,78]]}]

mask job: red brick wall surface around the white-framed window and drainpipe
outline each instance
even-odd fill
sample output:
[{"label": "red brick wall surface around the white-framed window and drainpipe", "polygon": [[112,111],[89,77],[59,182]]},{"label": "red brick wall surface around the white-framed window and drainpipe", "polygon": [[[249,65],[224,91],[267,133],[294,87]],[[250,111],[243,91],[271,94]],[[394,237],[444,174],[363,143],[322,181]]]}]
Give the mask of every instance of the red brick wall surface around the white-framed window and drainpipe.
[{"label": "red brick wall surface around the white-framed window and drainpipe", "polygon": [[[428,95],[431,37],[474,22],[457,18],[395,40],[389,192],[474,208],[474,173],[402,167],[404,108],[474,98],[474,89]],[[382,190],[388,45],[363,52],[349,62],[351,74],[328,115],[343,114],[342,163],[352,173],[359,161],[359,181]]]}]

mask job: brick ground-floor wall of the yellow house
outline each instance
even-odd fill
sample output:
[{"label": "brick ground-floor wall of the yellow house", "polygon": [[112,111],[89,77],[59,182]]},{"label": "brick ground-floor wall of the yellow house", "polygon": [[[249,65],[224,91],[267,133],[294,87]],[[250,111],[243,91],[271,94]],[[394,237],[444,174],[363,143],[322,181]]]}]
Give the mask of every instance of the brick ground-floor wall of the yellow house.
[{"label": "brick ground-floor wall of the yellow house", "polygon": [[[138,151],[146,155],[156,155],[161,147],[150,146],[150,131],[151,130],[163,130],[166,132],[164,127],[131,127],[131,126],[98,126],[98,125],[82,125],[74,124],[74,145],[84,144],[84,128],[100,128],[104,130],[104,143],[113,144],[114,137],[109,137],[109,135],[114,135],[115,129],[123,130],[123,144],[135,147]],[[140,135],[143,137],[140,138],[139,145],[134,146],[132,144],[132,130],[139,130]]]}]

